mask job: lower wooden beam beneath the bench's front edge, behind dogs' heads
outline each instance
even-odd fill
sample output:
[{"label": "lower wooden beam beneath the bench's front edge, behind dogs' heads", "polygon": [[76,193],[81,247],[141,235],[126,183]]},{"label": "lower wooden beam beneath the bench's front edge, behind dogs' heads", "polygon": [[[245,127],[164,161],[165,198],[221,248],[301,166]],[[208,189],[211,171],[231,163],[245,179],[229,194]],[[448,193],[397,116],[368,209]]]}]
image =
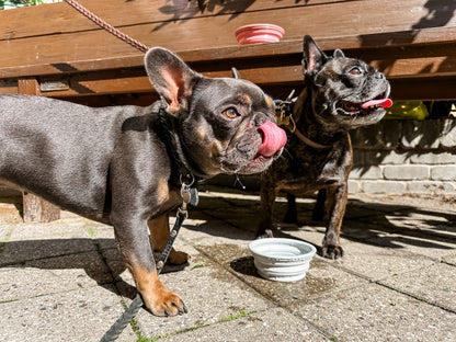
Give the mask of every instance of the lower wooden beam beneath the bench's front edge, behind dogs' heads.
[{"label": "lower wooden beam beneath the bench's front edge, behind dogs' heads", "polygon": [[[398,78],[432,78],[442,76],[456,76],[456,46],[454,56],[426,57],[426,58],[400,58],[375,59],[371,64],[383,71],[388,79]],[[378,54],[373,53],[374,56]],[[355,57],[353,55],[349,55]],[[303,71],[299,62],[300,56],[284,59],[256,59],[256,60],[230,60],[229,64],[193,65],[197,71],[207,77],[230,77],[229,69],[236,67],[242,78],[259,86],[299,83],[303,80]],[[265,62],[267,61],[267,64]],[[253,66],[253,67],[252,67]],[[78,96],[88,94],[118,94],[150,92],[152,87],[142,69],[123,69],[81,73],[65,77],[69,80],[70,90],[43,93],[46,96]],[[43,81],[52,79],[43,79]],[[54,79],[55,81],[59,80]]]}]

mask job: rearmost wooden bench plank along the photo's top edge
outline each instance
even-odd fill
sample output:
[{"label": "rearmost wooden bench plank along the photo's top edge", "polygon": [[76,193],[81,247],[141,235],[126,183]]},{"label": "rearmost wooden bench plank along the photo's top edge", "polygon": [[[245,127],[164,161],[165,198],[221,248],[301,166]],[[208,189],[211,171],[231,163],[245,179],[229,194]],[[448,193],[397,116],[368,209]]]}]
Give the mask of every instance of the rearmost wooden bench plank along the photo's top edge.
[{"label": "rearmost wooden bench plank along the photo's top edge", "polygon": [[[82,5],[115,27],[155,23],[153,30],[166,29],[167,22],[280,10],[284,8],[314,7],[342,0],[256,0],[256,1],[150,1],[150,0],[80,0]],[[422,1],[421,1],[422,2]],[[419,1],[419,3],[421,4]],[[445,1],[443,1],[445,2]],[[39,19],[31,21],[30,18]],[[50,3],[0,12],[0,41],[31,36],[100,30],[90,20],[67,3]]]}]

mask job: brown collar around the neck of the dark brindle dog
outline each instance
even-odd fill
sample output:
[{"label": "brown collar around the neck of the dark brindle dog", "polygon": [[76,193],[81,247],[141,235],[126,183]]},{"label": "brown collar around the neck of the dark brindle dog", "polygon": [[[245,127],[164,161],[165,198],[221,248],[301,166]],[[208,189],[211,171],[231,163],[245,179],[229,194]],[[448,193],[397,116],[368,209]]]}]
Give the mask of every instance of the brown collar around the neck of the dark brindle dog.
[{"label": "brown collar around the neck of the dark brindle dog", "polygon": [[282,100],[275,100],[275,117],[277,118],[277,125],[285,127],[289,130],[289,133],[295,134],[299,140],[301,140],[307,146],[310,146],[312,148],[330,148],[330,145],[321,145],[314,140],[310,140],[308,137],[306,137],[299,129],[296,127],[296,122],[293,118],[293,106],[296,102],[296,99],[292,99],[294,94],[294,90],[288,95],[288,98],[285,101]]}]

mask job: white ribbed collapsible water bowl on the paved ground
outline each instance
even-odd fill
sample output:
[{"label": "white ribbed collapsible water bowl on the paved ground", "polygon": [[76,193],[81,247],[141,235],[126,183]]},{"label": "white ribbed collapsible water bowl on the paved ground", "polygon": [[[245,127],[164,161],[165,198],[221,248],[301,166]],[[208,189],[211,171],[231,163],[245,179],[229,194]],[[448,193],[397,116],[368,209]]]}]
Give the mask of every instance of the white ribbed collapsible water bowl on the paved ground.
[{"label": "white ribbed collapsible water bowl on the paved ground", "polygon": [[307,242],[271,238],[249,243],[258,273],[265,280],[296,282],[306,276],[316,248]]}]

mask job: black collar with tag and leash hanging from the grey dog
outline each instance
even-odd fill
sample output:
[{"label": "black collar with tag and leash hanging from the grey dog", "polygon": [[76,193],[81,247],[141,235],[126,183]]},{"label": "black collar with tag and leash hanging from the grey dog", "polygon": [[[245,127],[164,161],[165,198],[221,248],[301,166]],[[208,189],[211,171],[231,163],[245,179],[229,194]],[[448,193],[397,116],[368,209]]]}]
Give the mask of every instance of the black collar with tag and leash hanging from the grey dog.
[{"label": "black collar with tag and leash hanging from the grey dog", "polygon": [[[167,152],[170,156],[171,160],[176,164],[178,170],[180,172],[180,183],[181,183],[181,197],[182,204],[178,208],[178,213],[175,215],[175,223],[170,231],[170,237],[164,246],[163,251],[159,260],[157,261],[157,275],[161,273],[167,262],[168,255],[171,251],[172,244],[174,243],[175,238],[178,237],[179,230],[182,227],[182,224],[185,218],[189,217],[187,205],[191,204],[196,206],[198,204],[198,192],[197,192],[197,179],[193,175],[193,173],[185,167],[182,162],[181,158],[179,157],[175,141],[173,140],[168,123],[167,123],[167,111],[164,107],[160,107],[159,110],[159,118],[161,129],[159,129],[159,134],[163,142],[167,146]],[[183,181],[185,178],[187,183]],[[133,299],[129,307],[122,314],[122,316],[115,321],[115,323],[110,328],[110,330],[103,335],[100,342],[112,342],[117,340],[124,329],[128,326],[132,319],[138,314],[139,309],[142,307],[144,300],[141,295],[138,293],[136,297]]]}]

